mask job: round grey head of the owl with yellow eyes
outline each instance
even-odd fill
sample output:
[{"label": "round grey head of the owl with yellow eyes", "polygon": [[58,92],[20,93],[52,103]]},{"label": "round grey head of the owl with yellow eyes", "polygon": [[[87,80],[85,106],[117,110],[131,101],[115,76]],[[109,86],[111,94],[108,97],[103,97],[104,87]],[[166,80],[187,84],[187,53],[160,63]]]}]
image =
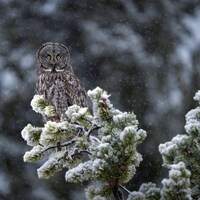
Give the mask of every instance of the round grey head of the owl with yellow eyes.
[{"label": "round grey head of the owl with yellow eyes", "polygon": [[39,73],[72,71],[68,48],[60,43],[45,43],[37,51]]}]

